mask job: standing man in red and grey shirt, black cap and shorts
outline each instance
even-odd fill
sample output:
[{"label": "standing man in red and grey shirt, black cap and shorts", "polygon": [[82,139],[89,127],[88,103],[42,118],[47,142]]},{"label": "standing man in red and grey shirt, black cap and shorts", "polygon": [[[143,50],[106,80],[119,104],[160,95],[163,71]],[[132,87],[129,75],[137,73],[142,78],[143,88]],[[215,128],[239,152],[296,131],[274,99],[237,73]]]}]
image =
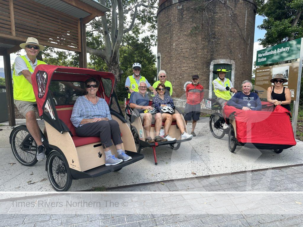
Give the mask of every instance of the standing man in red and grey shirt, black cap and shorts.
[{"label": "standing man in red and grey shirt, black cap and shorts", "polygon": [[196,136],[195,127],[197,121],[200,119],[201,102],[204,97],[204,89],[201,84],[198,83],[199,76],[192,76],[192,83],[186,86],[186,104],[184,110],[184,120],[187,124],[188,120],[192,119],[191,135]]}]

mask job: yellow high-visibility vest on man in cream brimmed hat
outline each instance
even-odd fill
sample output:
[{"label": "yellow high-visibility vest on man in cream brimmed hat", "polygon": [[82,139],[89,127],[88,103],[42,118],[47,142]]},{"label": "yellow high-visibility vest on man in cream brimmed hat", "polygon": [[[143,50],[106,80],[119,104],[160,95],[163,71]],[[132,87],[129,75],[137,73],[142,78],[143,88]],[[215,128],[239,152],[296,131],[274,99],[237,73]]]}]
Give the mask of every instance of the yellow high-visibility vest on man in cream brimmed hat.
[{"label": "yellow high-visibility vest on man in cream brimmed hat", "polygon": [[[26,66],[28,68],[28,71],[31,73],[34,72],[32,69],[31,64],[29,64],[29,61],[25,58],[25,56],[20,56],[26,63]],[[39,64],[46,64],[44,61],[37,60],[37,65]],[[14,81],[14,99],[15,100],[22,100],[22,101],[28,101],[28,102],[35,102],[35,94],[33,90],[32,84],[28,82],[28,80],[24,77],[23,74],[20,76],[15,74],[15,69],[13,72],[13,81]]]}]

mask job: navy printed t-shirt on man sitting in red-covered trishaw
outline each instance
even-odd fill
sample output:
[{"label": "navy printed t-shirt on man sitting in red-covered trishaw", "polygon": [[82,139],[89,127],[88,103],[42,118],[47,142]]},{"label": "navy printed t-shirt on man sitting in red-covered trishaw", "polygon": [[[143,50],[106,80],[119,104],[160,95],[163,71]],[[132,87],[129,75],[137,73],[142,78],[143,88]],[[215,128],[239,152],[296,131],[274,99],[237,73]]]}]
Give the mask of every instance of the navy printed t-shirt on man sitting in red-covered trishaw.
[{"label": "navy printed t-shirt on man sitting in red-covered trishaw", "polygon": [[251,110],[262,110],[261,100],[258,94],[253,92],[249,95],[246,95],[243,92],[237,92],[227,101],[227,105],[236,107],[240,110],[242,110],[242,107],[248,107]]}]

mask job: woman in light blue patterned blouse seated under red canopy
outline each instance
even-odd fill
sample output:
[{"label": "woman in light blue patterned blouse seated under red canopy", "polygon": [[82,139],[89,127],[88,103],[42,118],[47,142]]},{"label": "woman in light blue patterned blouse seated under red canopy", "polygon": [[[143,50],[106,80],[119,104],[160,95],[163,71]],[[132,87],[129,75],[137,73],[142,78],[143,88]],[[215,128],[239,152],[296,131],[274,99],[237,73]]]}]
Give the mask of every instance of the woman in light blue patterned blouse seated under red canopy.
[{"label": "woman in light blue patterned blouse seated under red canopy", "polygon": [[[76,127],[79,137],[100,137],[104,152],[105,166],[119,164],[131,160],[132,157],[122,150],[120,127],[112,120],[106,101],[96,96],[99,82],[94,78],[85,81],[87,94],[77,98],[71,116],[71,122]],[[118,158],[112,155],[110,146],[115,144]]]}]

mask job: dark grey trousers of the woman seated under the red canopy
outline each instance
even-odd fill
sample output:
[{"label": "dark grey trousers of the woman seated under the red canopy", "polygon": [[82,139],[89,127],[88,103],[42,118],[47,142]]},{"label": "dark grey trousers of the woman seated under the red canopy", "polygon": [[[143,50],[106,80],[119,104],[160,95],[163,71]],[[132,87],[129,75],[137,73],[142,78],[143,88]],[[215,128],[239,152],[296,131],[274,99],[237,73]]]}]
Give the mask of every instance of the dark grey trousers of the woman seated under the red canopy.
[{"label": "dark grey trousers of the woman seated under the red canopy", "polygon": [[[79,137],[100,137],[103,148],[123,143],[120,127],[115,120],[101,120],[93,123],[86,123],[76,128]],[[112,137],[112,140],[111,140]]]}]

